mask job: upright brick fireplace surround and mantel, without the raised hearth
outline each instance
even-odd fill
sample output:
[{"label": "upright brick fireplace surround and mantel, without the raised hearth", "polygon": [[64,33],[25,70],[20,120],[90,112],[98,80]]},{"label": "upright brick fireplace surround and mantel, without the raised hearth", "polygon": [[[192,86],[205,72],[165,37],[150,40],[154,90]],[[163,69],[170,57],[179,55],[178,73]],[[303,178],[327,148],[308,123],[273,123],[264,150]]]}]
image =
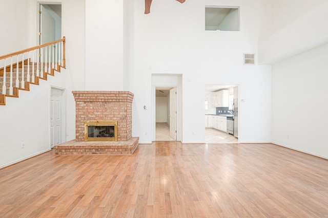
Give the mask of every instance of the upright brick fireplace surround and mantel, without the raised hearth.
[{"label": "upright brick fireplace surround and mantel, without the raised hearth", "polygon": [[132,101],[129,91],[72,91],[75,99],[76,141],[84,141],[85,121],[117,120],[118,141],[132,138]]}]

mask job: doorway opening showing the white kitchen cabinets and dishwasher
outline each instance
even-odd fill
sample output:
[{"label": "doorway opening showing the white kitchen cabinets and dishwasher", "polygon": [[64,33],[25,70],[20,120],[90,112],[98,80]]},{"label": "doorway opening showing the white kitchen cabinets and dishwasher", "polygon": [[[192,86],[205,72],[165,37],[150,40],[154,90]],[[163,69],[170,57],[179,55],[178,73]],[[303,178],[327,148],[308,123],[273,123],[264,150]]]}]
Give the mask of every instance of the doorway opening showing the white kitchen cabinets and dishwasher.
[{"label": "doorway opening showing the white kitchen cabinets and dishwasher", "polygon": [[238,143],[239,85],[205,86],[206,143]]}]

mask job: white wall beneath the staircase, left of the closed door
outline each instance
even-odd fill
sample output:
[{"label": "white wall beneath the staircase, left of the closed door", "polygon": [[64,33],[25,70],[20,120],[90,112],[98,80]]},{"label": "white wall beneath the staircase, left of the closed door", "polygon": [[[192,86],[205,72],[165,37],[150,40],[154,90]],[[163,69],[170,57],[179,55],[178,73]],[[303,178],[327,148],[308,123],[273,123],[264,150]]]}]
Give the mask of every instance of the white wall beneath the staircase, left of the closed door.
[{"label": "white wall beneath the staircase, left of the closed door", "polygon": [[[0,168],[50,149],[51,86],[65,89],[63,71],[40,80],[39,85],[31,84],[30,91],[20,90],[19,98],[6,97],[6,105],[0,106]],[[67,94],[65,90],[64,99]]]}]

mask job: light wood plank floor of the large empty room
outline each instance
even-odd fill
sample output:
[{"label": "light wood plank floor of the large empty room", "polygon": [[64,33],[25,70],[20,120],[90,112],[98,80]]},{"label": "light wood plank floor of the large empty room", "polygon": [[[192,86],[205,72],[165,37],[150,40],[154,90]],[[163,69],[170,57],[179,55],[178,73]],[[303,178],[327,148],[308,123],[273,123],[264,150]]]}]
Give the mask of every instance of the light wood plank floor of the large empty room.
[{"label": "light wood plank floor of the large empty room", "polygon": [[0,170],[0,217],[328,217],[328,161],[272,144],[141,144]]}]

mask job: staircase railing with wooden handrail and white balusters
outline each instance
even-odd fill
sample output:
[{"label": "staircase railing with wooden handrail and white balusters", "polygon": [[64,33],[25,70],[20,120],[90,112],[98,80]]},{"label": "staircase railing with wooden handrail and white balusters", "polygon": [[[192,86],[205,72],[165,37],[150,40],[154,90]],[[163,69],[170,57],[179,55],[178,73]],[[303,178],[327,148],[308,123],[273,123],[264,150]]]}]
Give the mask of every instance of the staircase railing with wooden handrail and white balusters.
[{"label": "staircase railing with wooden handrail and white balusters", "polygon": [[[47,80],[54,71],[66,68],[66,38],[0,56],[0,105],[6,97],[18,97],[19,90],[30,90],[30,84]],[[8,65],[6,65],[9,63]]]}]

